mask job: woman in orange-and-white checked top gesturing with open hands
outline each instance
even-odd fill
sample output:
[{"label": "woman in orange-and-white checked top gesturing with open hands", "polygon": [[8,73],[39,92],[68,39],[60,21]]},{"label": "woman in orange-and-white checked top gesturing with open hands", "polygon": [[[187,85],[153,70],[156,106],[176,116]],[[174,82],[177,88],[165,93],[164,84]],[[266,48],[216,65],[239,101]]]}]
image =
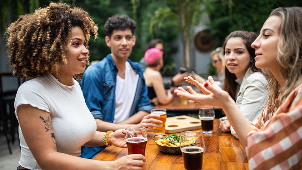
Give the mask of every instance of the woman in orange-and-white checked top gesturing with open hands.
[{"label": "woman in orange-and-white checked top gesturing with open hands", "polygon": [[251,125],[230,95],[209,83],[196,86],[207,95],[190,88],[175,90],[179,96],[207,105],[222,107],[248,156],[249,169],[302,168],[302,8],[275,9],[252,43],[255,65],[265,69],[269,99],[260,118]]}]

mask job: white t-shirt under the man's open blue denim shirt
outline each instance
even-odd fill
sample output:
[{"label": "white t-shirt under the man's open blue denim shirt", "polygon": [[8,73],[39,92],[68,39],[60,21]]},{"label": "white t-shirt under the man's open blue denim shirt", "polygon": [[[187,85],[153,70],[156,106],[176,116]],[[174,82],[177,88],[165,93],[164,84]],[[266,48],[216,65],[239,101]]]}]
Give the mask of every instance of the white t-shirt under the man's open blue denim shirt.
[{"label": "white t-shirt under the man's open blue denim shirt", "polygon": [[125,79],[116,76],[115,89],[115,110],[113,123],[119,123],[130,116],[139,75],[131,67],[130,63],[125,63]]}]

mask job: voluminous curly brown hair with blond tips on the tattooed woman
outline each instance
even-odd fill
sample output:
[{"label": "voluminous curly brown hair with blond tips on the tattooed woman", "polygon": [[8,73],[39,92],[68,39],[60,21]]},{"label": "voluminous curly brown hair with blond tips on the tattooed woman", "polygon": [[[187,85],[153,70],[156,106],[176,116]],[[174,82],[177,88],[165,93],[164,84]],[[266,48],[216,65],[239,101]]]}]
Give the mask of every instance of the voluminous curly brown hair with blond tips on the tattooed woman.
[{"label": "voluminous curly brown hair with blond tips on the tattooed woman", "polygon": [[7,54],[14,67],[13,75],[33,79],[48,73],[58,74],[60,66],[67,64],[71,29],[75,26],[82,28],[84,46],[88,49],[90,31],[96,39],[98,27],[83,9],[71,8],[65,3],[50,3],[33,14],[21,15],[6,30]]}]

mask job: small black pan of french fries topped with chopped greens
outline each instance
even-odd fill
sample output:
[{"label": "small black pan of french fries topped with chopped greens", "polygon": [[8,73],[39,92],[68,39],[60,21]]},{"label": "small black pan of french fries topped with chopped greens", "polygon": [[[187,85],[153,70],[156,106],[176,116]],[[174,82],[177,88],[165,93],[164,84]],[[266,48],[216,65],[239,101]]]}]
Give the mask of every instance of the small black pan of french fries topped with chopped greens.
[{"label": "small black pan of french fries topped with chopped greens", "polygon": [[[159,138],[157,140],[154,139],[155,136],[165,136],[163,138]],[[179,135],[176,133],[172,133],[169,136],[164,134],[157,134],[153,137],[154,142],[156,143],[158,149],[165,154],[170,155],[181,155],[180,151],[180,143],[179,143]],[[186,141],[184,145],[192,145],[195,143],[195,138],[192,137],[192,140]]]}]

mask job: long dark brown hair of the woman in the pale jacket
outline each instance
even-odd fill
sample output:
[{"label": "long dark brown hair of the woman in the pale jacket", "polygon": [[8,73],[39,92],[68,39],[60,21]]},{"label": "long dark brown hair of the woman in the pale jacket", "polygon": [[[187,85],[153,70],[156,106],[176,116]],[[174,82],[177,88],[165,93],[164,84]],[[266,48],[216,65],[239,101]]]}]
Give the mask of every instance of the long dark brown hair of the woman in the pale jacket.
[{"label": "long dark brown hair of the woman in the pale jacket", "polygon": [[[256,34],[253,32],[248,31],[233,31],[227,37],[223,43],[223,54],[225,54],[226,43],[230,40],[230,38],[239,37],[243,40],[245,47],[248,50],[248,54],[250,55],[251,62],[248,65],[248,69],[252,72],[258,72],[260,69],[256,68],[255,66],[255,49],[251,47],[252,42],[255,41]],[[227,91],[230,96],[235,100],[236,98],[236,87],[237,83],[235,82],[236,76],[235,74],[229,72],[229,70],[225,67],[225,83],[224,83],[224,90]]]}]

